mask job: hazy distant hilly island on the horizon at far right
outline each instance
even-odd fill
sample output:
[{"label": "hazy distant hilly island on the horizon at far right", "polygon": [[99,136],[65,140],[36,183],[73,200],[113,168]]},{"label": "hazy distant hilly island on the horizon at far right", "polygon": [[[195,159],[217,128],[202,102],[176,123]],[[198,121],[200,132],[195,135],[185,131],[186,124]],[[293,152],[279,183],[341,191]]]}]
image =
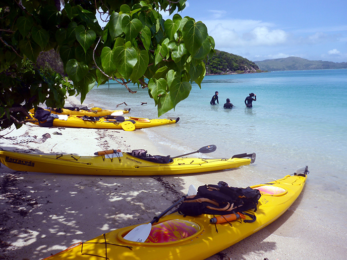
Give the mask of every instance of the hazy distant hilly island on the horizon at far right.
[{"label": "hazy distant hilly island on the horizon at far right", "polygon": [[346,69],[347,62],[332,62],[322,60],[308,60],[300,57],[288,57],[278,59],[266,59],[254,61],[261,70],[282,71],[282,70],[311,70],[311,69]]}]

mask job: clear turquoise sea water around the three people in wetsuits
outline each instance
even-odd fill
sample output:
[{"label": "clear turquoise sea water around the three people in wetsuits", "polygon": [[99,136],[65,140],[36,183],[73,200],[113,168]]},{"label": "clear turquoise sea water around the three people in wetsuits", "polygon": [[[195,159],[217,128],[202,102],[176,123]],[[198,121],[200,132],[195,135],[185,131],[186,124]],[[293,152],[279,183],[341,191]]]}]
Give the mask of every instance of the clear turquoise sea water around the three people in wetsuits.
[{"label": "clear turquoise sea water around the three people in wetsuits", "polygon": [[[118,108],[130,107],[132,116],[157,118],[148,90],[130,88],[137,93],[118,84],[94,88],[84,104],[115,109],[125,102]],[[209,102],[215,91],[220,104],[213,106]],[[246,108],[244,99],[251,92],[257,101]],[[213,157],[254,152],[252,171],[259,177],[269,172],[281,177],[308,165],[313,189],[334,190],[346,198],[346,94],[346,69],[206,76],[201,89],[193,84],[189,97],[161,116],[180,117],[179,123],[141,131],[172,156],[211,144],[217,146]],[[223,108],[227,98],[235,105],[231,110]]]}]

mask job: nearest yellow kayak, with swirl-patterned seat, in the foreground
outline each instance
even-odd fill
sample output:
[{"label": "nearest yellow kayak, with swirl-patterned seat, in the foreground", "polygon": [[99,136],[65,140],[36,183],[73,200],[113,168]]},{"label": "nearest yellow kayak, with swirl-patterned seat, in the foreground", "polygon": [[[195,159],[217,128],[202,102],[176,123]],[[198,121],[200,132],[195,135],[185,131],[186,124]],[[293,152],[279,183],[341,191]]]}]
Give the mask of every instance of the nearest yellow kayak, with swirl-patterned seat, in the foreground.
[{"label": "nearest yellow kayak, with swirl-patterned seat, in the foreground", "polygon": [[256,220],[252,223],[246,223],[245,220],[250,220],[250,217],[246,216],[245,220],[231,221],[232,225],[213,224],[210,219],[215,215],[184,217],[176,212],[153,224],[149,236],[146,236],[147,239],[143,243],[132,242],[124,237],[130,231],[137,232],[148,224],[116,229],[87,242],[75,244],[47,259],[203,260],[250,236],[280,217],[301,193],[307,173],[306,166],[302,173],[251,186],[261,193],[258,209],[255,212],[247,210],[256,216]]}]

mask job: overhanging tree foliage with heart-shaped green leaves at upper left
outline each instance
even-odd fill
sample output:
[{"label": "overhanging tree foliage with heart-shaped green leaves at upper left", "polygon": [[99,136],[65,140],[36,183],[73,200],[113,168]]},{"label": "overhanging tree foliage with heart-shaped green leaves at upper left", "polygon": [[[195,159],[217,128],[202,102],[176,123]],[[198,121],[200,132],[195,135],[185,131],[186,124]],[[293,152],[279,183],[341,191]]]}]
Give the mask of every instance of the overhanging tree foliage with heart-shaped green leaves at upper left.
[{"label": "overhanging tree foliage with heart-shaped green leaves at upper left", "polygon": [[[171,110],[192,82],[201,88],[204,61],[214,52],[202,22],[159,13],[184,7],[185,0],[1,0],[0,128],[20,127],[41,103],[63,107],[67,95],[80,94],[83,103],[96,83],[111,78],[131,93],[130,83],[148,87],[159,116]],[[100,12],[108,15],[105,28]],[[37,65],[52,49],[67,77]]]}]

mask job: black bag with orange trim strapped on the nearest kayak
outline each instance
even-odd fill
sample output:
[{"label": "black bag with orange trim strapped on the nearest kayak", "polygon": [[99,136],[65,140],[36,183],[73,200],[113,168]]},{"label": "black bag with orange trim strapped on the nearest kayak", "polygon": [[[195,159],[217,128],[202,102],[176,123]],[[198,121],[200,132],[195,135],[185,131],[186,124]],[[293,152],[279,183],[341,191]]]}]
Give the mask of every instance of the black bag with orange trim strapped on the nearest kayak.
[{"label": "black bag with orange trim strapped on the nearest kayak", "polygon": [[244,189],[223,185],[204,185],[198,188],[197,195],[186,197],[177,211],[189,216],[226,215],[251,208],[256,211],[260,196],[259,190],[250,187]]}]

